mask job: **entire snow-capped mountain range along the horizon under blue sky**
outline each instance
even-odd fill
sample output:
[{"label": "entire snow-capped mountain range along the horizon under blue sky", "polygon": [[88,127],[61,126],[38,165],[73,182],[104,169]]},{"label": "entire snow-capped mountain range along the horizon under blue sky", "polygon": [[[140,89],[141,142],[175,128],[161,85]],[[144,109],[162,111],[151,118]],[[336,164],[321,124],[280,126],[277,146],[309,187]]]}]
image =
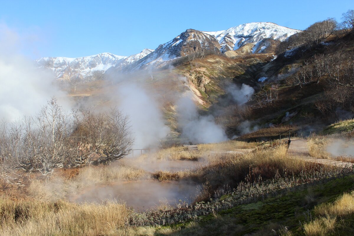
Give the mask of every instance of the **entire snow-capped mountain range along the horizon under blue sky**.
[{"label": "entire snow-capped mountain range along the horizon under blue sky", "polygon": [[[207,32],[187,29],[176,38],[161,44],[156,50],[144,49],[129,57],[101,53],[89,57],[44,57],[36,60],[41,68],[51,69],[58,79],[92,76],[95,71],[101,75],[116,71],[163,67],[172,60],[190,54],[225,53],[242,50],[242,53],[273,53],[280,41],[301,30],[282,27],[270,22],[241,24],[227,30]],[[227,54],[227,53],[226,53]]]}]

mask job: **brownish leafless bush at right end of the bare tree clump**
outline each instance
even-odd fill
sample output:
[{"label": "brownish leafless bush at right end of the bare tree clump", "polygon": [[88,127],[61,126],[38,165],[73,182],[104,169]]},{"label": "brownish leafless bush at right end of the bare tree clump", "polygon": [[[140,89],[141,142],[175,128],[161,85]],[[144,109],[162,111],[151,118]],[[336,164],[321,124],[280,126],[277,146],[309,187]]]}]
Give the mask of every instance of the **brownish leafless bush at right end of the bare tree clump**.
[{"label": "brownish leafless bush at right end of the bare tree clump", "polygon": [[105,113],[82,110],[75,115],[74,160],[71,167],[82,164],[109,164],[129,154],[134,138],[129,116],[116,108]]}]

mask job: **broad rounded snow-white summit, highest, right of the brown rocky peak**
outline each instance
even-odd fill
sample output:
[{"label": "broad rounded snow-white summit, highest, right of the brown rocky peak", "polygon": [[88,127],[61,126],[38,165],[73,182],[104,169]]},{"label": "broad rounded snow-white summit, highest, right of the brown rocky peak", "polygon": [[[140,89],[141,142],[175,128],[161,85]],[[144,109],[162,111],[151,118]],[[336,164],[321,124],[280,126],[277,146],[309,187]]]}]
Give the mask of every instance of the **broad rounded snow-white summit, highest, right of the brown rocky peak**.
[{"label": "broad rounded snow-white summit, highest, right of the brown rocky peak", "polygon": [[[215,32],[203,31],[203,33],[210,34],[218,40],[221,46],[221,52],[223,53],[230,50],[237,50],[241,46],[249,43],[256,45],[263,39],[284,41],[289,36],[299,32],[301,32],[301,30],[290,29],[271,22],[241,24],[227,30]],[[260,50],[257,47],[253,51],[259,52]]]}]

